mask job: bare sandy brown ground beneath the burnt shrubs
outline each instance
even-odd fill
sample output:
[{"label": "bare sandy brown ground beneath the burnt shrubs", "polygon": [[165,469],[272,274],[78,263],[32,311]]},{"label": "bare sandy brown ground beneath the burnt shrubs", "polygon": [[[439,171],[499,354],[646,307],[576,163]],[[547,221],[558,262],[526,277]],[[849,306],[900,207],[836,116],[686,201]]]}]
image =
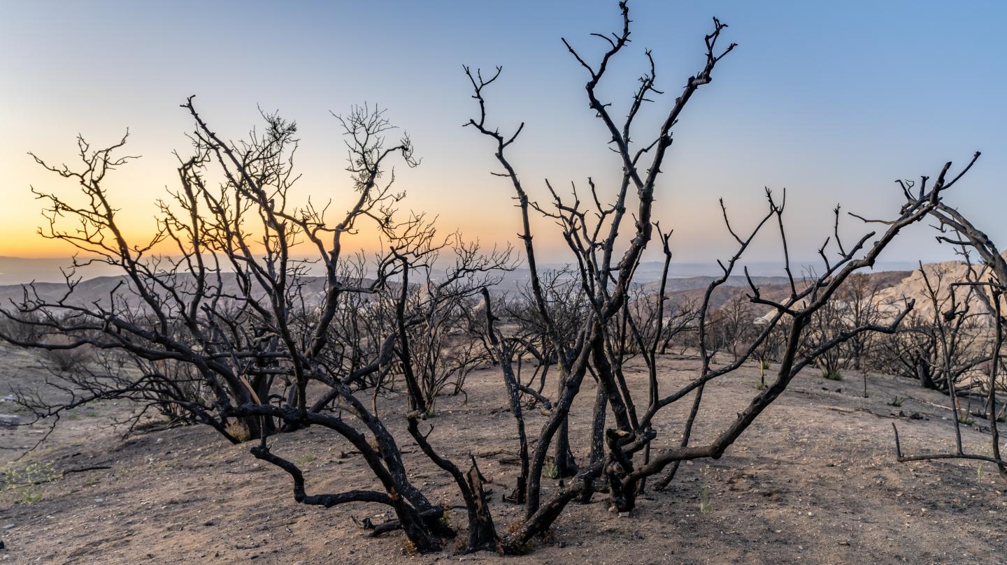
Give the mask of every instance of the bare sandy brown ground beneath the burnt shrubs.
[{"label": "bare sandy brown ground beneath the burnt shrubs", "polygon": [[[0,387],[38,379],[30,355],[9,349]],[[696,362],[662,359],[665,390],[694,374]],[[629,375],[634,386],[643,374]],[[707,389],[708,411],[697,440],[712,436],[755,394],[758,370],[745,368]],[[511,462],[515,427],[493,370],[474,373],[468,399],[442,397],[429,420],[434,445],[456,461],[471,452],[492,482],[491,510],[507,528],[520,509],[501,502],[514,487]],[[573,428],[589,420],[593,393],[585,385],[575,405]],[[685,464],[673,486],[649,493],[632,516],[606,511],[603,497],[571,504],[555,536],[531,554],[409,555],[401,533],[369,538],[353,518],[379,517],[384,507],[354,504],[333,509],[298,505],[288,477],[231,445],[212,430],[186,427],[123,440],[112,426],[131,409],[105,402],[76,410],[27,459],[69,473],[31,490],[0,493],[3,563],[1005,563],[1007,489],[990,465],[894,460],[891,422],[906,451],[953,444],[947,399],[912,383],[869,377],[862,397],[858,375],[828,381],[809,372],[771,406],[720,460]],[[6,390],[0,388],[0,396]],[[895,396],[908,397],[900,407]],[[401,413],[401,398],[381,401],[385,414]],[[663,412],[665,441],[676,441],[687,409]],[[0,412],[10,412],[0,403]],[[904,416],[899,416],[899,413]],[[922,416],[911,419],[911,414]],[[893,417],[892,417],[893,416]],[[530,429],[544,418],[534,416]],[[390,418],[395,425],[402,422]],[[983,420],[977,421],[977,426]],[[41,426],[0,431],[0,446],[28,445]],[[399,437],[406,437],[405,433]],[[584,438],[574,437],[578,457]],[[987,452],[988,435],[965,431],[965,442]],[[307,470],[312,493],[373,485],[347,444],[320,429],[285,434],[274,449]],[[404,442],[416,484],[432,500],[459,505],[450,479]],[[344,452],[346,451],[346,452]],[[0,450],[0,463],[17,453]],[[710,511],[701,512],[701,492]],[[376,520],[377,520],[376,519]],[[451,515],[463,524],[463,511]]]}]

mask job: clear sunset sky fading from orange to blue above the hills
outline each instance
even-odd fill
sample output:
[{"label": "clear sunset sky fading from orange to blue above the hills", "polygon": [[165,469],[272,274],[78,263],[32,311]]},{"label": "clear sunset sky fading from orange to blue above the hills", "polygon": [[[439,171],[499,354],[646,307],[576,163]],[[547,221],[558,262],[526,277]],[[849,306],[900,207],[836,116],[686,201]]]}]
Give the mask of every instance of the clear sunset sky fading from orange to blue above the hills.
[{"label": "clear sunset sky fading from orange to blue above the hills", "polygon": [[[700,67],[711,16],[739,43],[687,110],[659,187],[657,216],[676,228],[683,260],[729,252],[720,196],[743,227],[759,212],[763,186],[786,187],[795,254],[811,257],[837,202],[864,215],[890,213],[900,203],[895,178],[936,175],[945,161],[964,164],[976,150],[983,158],[948,198],[1003,244],[1007,3],[630,5],[633,42],[603,88],[616,107],[644,68],[644,48],[668,91],[645,116],[656,118]],[[588,34],[617,25],[615,2],[599,0],[0,1],[0,191],[8,203],[0,207],[0,255],[67,254],[32,235],[40,217],[28,185],[70,187],[25,152],[69,160],[78,132],[107,144],[130,128],[129,151],[144,157],[110,186],[130,212],[130,232],[143,233],[151,203],[174,181],[171,150],[186,149],[189,122],[178,105],[191,93],[230,138],[257,124],[257,105],[296,120],[301,190],[337,203],[349,183],[328,111],[387,107],[423,158],[418,169],[400,171],[408,206],[439,213],[445,229],[516,240],[511,189],[488,174],[496,170],[491,147],[460,127],[475,111],[461,65],[503,65],[487,92],[490,119],[505,129],[527,123],[513,160],[537,197],[545,198],[547,177],[554,186],[588,176],[610,186],[618,164],[587,109],[585,73],[560,37],[599,53]],[[851,236],[860,229],[847,224],[856,228]],[[558,239],[547,236],[551,225],[536,227],[544,253],[562,258]],[[930,235],[916,229],[883,258],[949,256]],[[752,258],[775,257],[769,243]]]}]

